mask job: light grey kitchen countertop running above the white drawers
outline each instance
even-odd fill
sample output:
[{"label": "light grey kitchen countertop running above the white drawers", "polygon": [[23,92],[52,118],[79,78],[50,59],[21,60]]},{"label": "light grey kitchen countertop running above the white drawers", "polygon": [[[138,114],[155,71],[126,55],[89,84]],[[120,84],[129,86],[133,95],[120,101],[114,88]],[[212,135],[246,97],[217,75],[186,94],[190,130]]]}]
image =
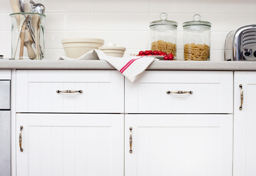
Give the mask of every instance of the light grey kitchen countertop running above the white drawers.
[{"label": "light grey kitchen countertop running above the white drawers", "polygon": [[[101,60],[0,60],[0,69],[115,69]],[[256,70],[255,61],[154,61],[147,70]]]}]

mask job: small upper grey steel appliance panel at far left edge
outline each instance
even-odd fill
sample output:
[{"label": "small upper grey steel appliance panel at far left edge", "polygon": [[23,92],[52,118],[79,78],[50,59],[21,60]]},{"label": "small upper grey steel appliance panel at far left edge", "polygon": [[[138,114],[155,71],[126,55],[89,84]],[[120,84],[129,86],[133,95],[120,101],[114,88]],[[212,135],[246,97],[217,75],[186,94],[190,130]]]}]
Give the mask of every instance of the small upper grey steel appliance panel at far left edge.
[{"label": "small upper grey steel appliance panel at far left edge", "polygon": [[0,81],[0,110],[10,110],[10,89],[11,81]]}]

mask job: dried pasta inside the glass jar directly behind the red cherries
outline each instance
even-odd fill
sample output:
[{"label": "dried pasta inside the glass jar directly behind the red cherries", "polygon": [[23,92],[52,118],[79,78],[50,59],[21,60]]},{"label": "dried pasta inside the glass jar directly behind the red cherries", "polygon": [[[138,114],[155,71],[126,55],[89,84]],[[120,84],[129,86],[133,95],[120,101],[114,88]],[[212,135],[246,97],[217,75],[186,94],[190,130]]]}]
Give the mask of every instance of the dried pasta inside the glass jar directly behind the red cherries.
[{"label": "dried pasta inside the glass jar directly behind the red cherries", "polygon": [[163,51],[167,54],[172,53],[176,57],[176,44],[171,42],[166,42],[163,40],[154,41],[151,43],[151,50]]}]

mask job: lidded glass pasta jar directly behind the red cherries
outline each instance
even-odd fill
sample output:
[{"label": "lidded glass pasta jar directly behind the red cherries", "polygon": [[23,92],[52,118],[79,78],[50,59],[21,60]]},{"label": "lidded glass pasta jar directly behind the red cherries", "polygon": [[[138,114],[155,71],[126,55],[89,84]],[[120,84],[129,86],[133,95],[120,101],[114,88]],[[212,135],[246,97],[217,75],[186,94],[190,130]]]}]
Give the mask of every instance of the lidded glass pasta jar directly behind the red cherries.
[{"label": "lidded glass pasta jar directly behind the red cherries", "polygon": [[158,21],[151,22],[150,49],[172,53],[176,57],[176,37],[178,23],[167,20],[167,14],[161,13]]}]

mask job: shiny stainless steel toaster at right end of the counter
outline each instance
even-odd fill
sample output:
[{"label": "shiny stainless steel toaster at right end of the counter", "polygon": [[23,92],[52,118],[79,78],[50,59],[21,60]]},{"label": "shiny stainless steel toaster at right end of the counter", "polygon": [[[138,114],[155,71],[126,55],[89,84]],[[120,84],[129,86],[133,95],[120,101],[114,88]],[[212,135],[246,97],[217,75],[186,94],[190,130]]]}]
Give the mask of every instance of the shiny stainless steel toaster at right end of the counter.
[{"label": "shiny stainless steel toaster at right end of the counter", "polygon": [[227,34],[225,61],[256,61],[256,24],[241,26]]}]

